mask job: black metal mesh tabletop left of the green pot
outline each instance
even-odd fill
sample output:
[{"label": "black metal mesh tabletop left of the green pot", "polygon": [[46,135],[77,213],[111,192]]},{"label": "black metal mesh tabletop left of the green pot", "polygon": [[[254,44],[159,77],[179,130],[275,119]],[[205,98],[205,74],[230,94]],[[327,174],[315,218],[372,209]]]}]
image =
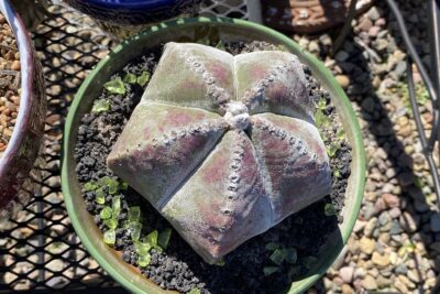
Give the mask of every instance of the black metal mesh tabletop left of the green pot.
[{"label": "black metal mesh tabletop left of the green pot", "polygon": [[[245,0],[232,1],[206,1],[202,13],[248,19]],[[67,216],[59,152],[68,106],[112,43],[94,21],[77,11],[53,6],[50,12],[33,37],[48,100],[42,159],[35,167],[41,188],[30,204],[0,224],[0,293],[97,293],[102,287],[109,292],[116,283],[82,248]]]}]

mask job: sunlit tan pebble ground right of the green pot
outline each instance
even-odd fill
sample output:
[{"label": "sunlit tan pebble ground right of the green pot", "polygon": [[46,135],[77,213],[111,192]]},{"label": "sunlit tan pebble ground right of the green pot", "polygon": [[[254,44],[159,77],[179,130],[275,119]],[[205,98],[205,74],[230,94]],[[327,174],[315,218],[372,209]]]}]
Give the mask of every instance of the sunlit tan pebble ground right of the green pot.
[{"label": "sunlit tan pebble ground right of the green pot", "polygon": [[[440,214],[421,153],[406,86],[406,53],[387,7],[376,1],[355,22],[342,50],[331,39],[294,39],[324,61],[350,96],[363,130],[367,182],[354,232],[309,293],[438,293]],[[399,1],[410,36],[429,66],[426,3]],[[431,105],[415,70],[426,129]],[[436,161],[439,162],[438,153]]]}]

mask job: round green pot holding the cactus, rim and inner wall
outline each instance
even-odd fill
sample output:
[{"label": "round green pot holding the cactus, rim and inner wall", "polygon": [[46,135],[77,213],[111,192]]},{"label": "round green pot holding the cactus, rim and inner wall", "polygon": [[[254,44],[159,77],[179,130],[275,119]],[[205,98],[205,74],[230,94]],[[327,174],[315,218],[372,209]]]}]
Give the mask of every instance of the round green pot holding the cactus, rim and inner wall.
[{"label": "round green pot holding the cactus, rim and inner wall", "polygon": [[99,96],[103,84],[110,79],[111,75],[125,66],[130,59],[136,57],[136,54],[140,55],[147,48],[170,41],[195,42],[200,37],[220,37],[222,41],[266,41],[276,45],[284,45],[292,53],[298,55],[302,63],[310,66],[314,76],[321,83],[322,87],[330,92],[348,140],[352,145],[352,173],[346,188],[345,207],[342,211],[345,220],[339,226],[339,230],[329,237],[307,276],[292,284],[289,292],[300,293],[326,273],[350,237],[364,190],[364,149],[355,113],[331,73],[314,56],[302,52],[298,44],[287,36],[255,23],[219,18],[180,19],[161,23],[117,46],[111,54],[98,64],[80,87],[66,122],[62,184],[72,222],[91,255],[121,285],[134,293],[164,293],[161,287],[145,279],[138,269],[125,263],[119,252],[109,248],[102,241],[101,231],[96,226],[92,216],[86,210],[81,187],[75,172],[74,149],[82,116],[90,110],[95,97]]}]

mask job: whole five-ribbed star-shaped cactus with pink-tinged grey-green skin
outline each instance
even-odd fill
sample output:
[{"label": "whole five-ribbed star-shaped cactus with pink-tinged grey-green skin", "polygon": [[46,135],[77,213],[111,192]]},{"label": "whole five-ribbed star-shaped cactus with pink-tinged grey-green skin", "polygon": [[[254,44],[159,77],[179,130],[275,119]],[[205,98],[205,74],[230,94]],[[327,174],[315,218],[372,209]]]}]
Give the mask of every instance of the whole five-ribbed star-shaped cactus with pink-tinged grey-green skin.
[{"label": "whole five-ribbed star-shaped cactus with pink-tinged grey-green skin", "polygon": [[298,58],[168,43],[107,159],[209,263],[330,194]]}]

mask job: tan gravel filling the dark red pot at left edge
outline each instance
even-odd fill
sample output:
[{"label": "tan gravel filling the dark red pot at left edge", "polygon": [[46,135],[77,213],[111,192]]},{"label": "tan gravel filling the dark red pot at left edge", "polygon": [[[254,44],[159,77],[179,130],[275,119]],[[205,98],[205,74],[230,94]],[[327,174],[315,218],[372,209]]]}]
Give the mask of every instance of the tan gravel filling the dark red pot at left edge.
[{"label": "tan gravel filling the dark red pot at left edge", "polygon": [[20,53],[4,15],[0,13],[0,157],[12,137],[20,107]]}]

